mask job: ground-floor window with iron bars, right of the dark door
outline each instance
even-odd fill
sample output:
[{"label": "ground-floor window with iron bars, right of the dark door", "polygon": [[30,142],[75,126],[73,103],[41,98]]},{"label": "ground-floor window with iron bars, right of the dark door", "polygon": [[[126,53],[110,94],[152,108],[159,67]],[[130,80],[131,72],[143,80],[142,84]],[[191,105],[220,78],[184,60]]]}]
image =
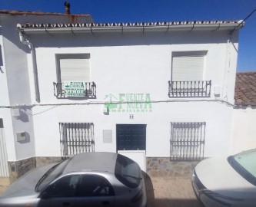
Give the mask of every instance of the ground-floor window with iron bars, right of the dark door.
[{"label": "ground-floor window with iron bars, right of the dark door", "polygon": [[171,159],[204,158],[205,122],[171,122]]}]

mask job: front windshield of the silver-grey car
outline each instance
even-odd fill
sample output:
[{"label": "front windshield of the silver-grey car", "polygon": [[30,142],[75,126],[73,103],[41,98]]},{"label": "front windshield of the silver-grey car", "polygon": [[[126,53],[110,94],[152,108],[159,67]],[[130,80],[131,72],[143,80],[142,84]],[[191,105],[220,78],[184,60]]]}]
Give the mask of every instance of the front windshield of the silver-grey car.
[{"label": "front windshield of the silver-grey car", "polygon": [[68,165],[70,159],[63,161],[62,163],[58,163],[57,165],[53,166],[49,169],[44,176],[38,181],[37,185],[35,186],[35,191],[39,192],[45,188],[50,182],[56,179],[58,176],[62,175],[63,170]]}]

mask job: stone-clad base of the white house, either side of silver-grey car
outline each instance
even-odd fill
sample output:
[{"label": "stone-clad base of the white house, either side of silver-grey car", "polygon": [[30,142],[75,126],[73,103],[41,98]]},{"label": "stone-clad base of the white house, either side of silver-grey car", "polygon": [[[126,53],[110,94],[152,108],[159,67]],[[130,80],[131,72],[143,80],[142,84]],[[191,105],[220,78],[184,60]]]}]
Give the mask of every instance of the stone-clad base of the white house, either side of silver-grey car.
[{"label": "stone-clad base of the white house, either side of silver-grey car", "polygon": [[[14,182],[30,169],[45,166],[50,163],[59,163],[61,161],[61,157],[37,156],[15,162],[8,162],[10,182]],[[198,161],[172,161],[169,157],[147,157],[146,161],[148,176],[168,178],[191,177],[194,166],[198,163]]]}]

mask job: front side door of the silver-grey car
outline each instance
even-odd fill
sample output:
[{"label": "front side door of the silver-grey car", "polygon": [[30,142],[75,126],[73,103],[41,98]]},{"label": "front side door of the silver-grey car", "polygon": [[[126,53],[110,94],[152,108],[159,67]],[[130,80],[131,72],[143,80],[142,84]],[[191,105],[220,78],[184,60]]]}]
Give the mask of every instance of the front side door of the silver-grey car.
[{"label": "front side door of the silver-grey car", "polygon": [[41,193],[38,207],[75,207],[76,189],[80,175],[64,176]]}]

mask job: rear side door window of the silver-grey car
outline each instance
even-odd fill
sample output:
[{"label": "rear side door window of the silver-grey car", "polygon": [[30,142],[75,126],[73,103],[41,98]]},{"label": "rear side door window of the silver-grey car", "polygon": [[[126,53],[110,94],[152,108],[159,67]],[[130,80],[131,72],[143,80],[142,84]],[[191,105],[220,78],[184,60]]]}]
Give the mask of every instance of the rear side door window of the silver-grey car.
[{"label": "rear side door window of the silver-grey car", "polygon": [[111,196],[114,189],[102,176],[84,175],[78,185],[78,196]]}]

